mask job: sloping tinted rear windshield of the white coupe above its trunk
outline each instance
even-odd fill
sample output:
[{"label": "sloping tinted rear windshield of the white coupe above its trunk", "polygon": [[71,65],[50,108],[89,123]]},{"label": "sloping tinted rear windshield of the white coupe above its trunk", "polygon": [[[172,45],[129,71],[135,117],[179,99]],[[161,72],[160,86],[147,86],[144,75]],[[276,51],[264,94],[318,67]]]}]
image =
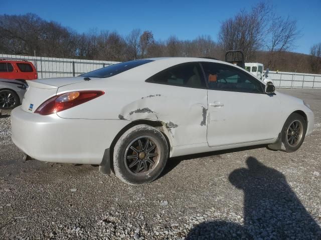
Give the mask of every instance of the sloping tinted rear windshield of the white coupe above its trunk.
[{"label": "sloping tinted rear windshield of the white coupe above its trunk", "polygon": [[127,71],[131,68],[134,68],[136,66],[140,66],[142,64],[151,62],[152,60],[147,59],[140,59],[140,60],[132,60],[132,61],[125,61],[121,63],[117,63],[114,65],[106,66],[94,71],[90,71],[87,73],[84,73],[80,76],[87,76],[87,77],[110,77],[117,75],[118,73],[121,73],[123,71]]}]

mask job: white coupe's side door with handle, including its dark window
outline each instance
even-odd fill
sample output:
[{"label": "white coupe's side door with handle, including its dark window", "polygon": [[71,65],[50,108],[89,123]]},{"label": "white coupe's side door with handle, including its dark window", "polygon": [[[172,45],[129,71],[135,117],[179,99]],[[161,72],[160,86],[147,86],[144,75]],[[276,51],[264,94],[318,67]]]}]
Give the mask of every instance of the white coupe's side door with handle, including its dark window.
[{"label": "white coupe's side door with handle, including its dark window", "polygon": [[242,70],[220,63],[202,63],[208,79],[209,146],[272,139],[278,134],[280,108],[276,94]]}]

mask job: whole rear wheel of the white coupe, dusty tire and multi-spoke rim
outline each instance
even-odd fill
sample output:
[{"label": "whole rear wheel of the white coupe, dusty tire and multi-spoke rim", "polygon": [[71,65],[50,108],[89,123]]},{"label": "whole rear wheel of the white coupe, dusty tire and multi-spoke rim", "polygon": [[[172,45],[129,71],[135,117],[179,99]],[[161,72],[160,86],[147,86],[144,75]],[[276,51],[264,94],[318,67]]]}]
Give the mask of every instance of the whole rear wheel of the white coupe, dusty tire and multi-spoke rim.
[{"label": "whole rear wheel of the white coupe, dusty tire and multi-spoke rim", "polygon": [[162,173],[168,156],[169,147],[161,131],[145,124],[133,126],[115,144],[115,175],[128,184],[146,184]]}]

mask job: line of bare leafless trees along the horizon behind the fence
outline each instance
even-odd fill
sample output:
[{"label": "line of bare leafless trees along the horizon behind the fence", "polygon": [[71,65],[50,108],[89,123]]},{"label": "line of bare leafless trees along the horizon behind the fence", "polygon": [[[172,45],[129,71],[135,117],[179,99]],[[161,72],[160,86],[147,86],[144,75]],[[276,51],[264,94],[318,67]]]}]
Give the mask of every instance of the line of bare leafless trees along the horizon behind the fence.
[{"label": "line of bare leafless trees along the horizon behind the fence", "polygon": [[224,60],[226,50],[242,49],[247,62],[262,62],[272,70],[321,73],[321,43],[311,47],[310,55],[289,52],[300,35],[295,20],[276,15],[266,2],[223,21],[218,41],[210,35],[156,40],[151,30],[139,28],[127,35],[95,29],[78,33],[34,13],[0,15],[0,52],[7,54],[111,61],[160,56]]}]

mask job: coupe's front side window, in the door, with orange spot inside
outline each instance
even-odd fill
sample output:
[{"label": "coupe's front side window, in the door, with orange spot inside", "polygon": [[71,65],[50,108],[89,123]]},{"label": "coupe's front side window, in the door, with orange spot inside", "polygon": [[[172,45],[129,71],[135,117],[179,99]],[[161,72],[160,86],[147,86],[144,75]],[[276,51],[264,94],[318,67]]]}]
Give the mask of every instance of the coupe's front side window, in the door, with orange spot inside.
[{"label": "coupe's front side window, in the door, with orange spot inside", "polygon": [[236,67],[214,62],[202,62],[202,66],[210,89],[264,93],[257,79]]}]

